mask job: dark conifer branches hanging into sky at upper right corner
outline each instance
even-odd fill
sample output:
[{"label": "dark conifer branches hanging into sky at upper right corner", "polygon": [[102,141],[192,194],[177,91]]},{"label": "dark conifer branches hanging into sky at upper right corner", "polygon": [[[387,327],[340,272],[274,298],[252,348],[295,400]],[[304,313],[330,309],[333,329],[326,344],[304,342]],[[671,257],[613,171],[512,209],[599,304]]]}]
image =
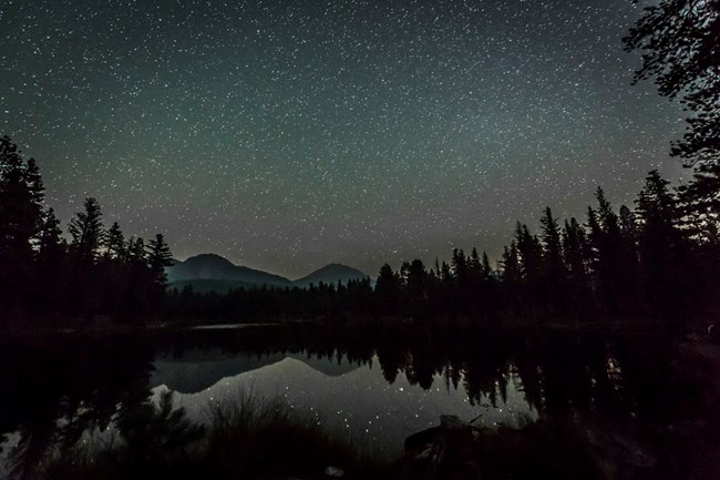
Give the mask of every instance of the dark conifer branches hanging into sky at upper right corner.
[{"label": "dark conifer branches hanging into sky at upper right corner", "polygon": [[[642,52],[636,81],[655,79],[664,96],[679,98],[690,113],[682,140],[671,154],[695,167],[679,188],[693,234],[718,245],[720,232],[720,1],[661,0],[647,7],[624,39]],[[710,258],[718,262],[720,252]]]}]

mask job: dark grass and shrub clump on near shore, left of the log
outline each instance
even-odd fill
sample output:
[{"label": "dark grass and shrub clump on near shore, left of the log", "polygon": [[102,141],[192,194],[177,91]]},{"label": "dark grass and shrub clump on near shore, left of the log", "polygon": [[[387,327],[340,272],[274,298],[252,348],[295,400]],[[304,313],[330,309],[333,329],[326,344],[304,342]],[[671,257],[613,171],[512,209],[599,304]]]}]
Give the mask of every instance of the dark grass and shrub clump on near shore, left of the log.
[{"label": "dark grass and shrub clump on near shore, left of the log", "polygon": [[360,457],[347,438],[330,435],[280,399],[244,390],[206,411],[205,425],[192,422],[183,408],[173,407],[172,392],[157,402],[123,406],[115,420],[119,438],[94,451],[74,446],[35,478],[322,479],[330,466],[346,479],[387,477],[382,462]]}]

